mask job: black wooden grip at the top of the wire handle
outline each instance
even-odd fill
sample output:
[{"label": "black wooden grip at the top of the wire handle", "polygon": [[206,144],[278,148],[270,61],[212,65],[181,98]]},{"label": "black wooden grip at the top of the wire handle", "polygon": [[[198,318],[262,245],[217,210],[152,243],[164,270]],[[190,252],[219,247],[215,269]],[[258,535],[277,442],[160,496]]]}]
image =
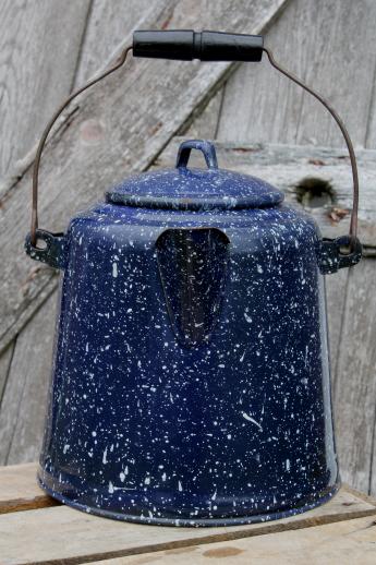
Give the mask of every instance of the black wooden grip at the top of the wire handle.
[{"label": "black wooden grip at the top of the wire handle", "polygon": [[137,31],[133,34],[133,56],[181,61],[258,62],[263,57],[263,37],[192,29]]}]

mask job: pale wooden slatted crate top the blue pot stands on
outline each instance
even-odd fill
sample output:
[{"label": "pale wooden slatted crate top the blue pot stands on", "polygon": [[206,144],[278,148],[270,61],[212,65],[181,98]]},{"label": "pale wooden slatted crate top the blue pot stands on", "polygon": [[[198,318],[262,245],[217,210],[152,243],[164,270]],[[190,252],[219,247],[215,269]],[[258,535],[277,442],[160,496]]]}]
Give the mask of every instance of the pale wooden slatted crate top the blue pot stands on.
[{"label": "pale wooden slatted crate top the blue pot stands on", "polygon": [[172,528],[99,518],[36,483],[36,465],[0,468],[1,565],[376,563],[376,501],[342,486],[300,516],[252,526]]}]

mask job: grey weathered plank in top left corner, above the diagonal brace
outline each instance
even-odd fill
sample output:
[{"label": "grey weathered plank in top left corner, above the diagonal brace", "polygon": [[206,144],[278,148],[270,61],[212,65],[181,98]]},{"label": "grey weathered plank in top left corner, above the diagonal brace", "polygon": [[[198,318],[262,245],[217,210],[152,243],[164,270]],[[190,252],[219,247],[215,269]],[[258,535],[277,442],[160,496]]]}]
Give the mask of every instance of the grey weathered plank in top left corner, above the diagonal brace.
[{"label": "grey weathered plank in top left corner, above the diagonal brace", "polygon": [[23,158],[74,81],[89,0],[3,0],[0,179]]}]

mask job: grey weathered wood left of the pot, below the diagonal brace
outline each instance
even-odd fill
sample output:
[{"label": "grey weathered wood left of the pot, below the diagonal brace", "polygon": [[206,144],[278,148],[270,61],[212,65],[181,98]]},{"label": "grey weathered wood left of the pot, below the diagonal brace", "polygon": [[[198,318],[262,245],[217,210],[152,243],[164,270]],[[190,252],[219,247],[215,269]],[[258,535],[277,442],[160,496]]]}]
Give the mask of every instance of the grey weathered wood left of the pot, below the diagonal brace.
[{"label": "grey weathered wood left of the pot, below the diagonal brace", "polygon": [[17,338],[0,411],[0,464],[34,461],[40,449],[51,371],[56,297]]}]

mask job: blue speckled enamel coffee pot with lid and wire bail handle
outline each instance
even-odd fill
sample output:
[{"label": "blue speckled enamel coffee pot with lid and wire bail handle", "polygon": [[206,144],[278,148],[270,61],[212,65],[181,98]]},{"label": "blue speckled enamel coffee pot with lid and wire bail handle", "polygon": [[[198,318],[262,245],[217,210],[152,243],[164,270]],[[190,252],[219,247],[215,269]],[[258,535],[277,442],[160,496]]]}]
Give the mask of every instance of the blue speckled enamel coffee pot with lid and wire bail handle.
[{"label": "blue speckled enamel coffee pot with lid and wire bail handle", "polygon": [[[38,167],[53,121],[131,50],[253,62],[265,52],[344,135],[350,233],[323,239],[281,191],[221,169],[202,140],[180,145],[174,168],[109,189],[65,233],[39,229]],[[61,269],[40,485],[88,513],[175,526],[271,520],[328,501],[339,474],[325,277],[362,254],[343,123],[259,36],[135,32],[117,64],[78,93],[39,144],[26,239],[32,259]],[[206,167],[190,166],[192,151]]]}]

